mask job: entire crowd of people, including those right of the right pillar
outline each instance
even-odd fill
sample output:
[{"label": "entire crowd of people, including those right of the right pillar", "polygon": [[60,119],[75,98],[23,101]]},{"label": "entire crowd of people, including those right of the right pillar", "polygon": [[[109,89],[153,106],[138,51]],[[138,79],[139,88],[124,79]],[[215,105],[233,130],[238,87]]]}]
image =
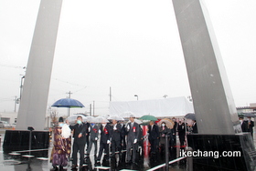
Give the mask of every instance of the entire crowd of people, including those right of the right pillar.
[{"label": "entire crowd of people, including those right of the right pillar", "polygon": [[[159,125],[158,121],[150,121],[147,126],[142,126],[134,119],[135,116],[131,115],[128,122],[111,119],[109,122],[84,123],[82,116],[78,116],[76,124],[69,125],[67,119],[64,122],[64,119],[59,117],[59,126],[54,129],[54,146],[51,154],[54,169],[63,169],[63,166],[68,165],[69,159],[72,160],[72,169],[77,168],[78,163],[79,167],[82,167],[90,154],[94,156],[96,164],[101,163],[102,158],[109,160],[116,157],[126,164],[136,164],[137,153],[143,154],[144,140],[148,140],[150,156],[154,156],[157,153],[165,153],[166,143],[168,148],[187,146],[186,135],[197,133],[196,120],[186,122],[184,118],[173,117],[172,126],[167,126],[165,122]],[[240,118],[240,124],[243,132],[251,132],[252,135],[254,122],[250,117]]]}]

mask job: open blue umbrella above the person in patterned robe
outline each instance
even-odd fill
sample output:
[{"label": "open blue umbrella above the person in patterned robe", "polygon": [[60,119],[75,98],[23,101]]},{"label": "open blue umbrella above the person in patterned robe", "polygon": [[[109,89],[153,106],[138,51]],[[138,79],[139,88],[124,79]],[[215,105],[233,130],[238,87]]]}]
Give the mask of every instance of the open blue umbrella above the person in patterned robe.
[{"label": "open blue umbrella above the person in patterned robe", "polygon": [[80,101],[73,99],[73,98],[61,98],[57,100],[52,106],[55,107],[67,107],[67,108],[81,108],[84,107]]}]

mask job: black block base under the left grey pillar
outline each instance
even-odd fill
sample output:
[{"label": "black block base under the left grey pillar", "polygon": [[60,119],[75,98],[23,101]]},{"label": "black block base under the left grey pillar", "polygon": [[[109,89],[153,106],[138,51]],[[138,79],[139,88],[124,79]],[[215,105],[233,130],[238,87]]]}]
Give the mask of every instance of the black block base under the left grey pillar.
[{"label": "black block base under the left grey pillar", "polygon": [[[4,152],[29,149],[29,132],[24,130],[6,130],[3,144]],[[49,147],[48,131],[32,131],[31,149],[45,149]]]}]

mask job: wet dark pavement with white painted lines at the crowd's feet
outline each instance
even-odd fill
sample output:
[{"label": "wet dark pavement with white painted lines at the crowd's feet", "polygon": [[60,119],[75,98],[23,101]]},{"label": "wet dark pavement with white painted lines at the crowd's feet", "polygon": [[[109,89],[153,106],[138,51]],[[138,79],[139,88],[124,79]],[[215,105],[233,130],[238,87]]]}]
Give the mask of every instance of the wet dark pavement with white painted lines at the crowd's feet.
[{"label": "wet dark pavement with white painted lines at the crowd's feet", "polygon": [[[0,129],[1,146],[0,146],[0,170],[6,171],[45,171],[52,170],[52,165],[49,162],[49,156],[52,149],[52,143],[50,143],[50,147],[48,149],[42,151],[22,151],[16,153],[7,153],[3,152],[3,142],[5,138],[5,131]],[[174,154],[176,154],[176,148],[173,149]],[[93,152],[93,149],[91,149]],[[92,154],[92,153],[91,153]],[[115,158],[111,158],[106,160],[104,157],[101,159],[101,163],[96,163],[94,160],[94,156],[91,155],[87,157],[84,163],[84,166],[80,170],[148,170],[151,167],[158,166],[165,163],[165,155],[164,154],[156,154],[153,156],[148,156],[147,154],[143,154],[142,152],[137,156],[139,158],[137,163],[135,164],[125,164],[125,150],[121,156],[118,154]],[[32,156],[32,157],[30,157]],[[176,158],[176,155],[174,156]],[[170,166],[169,170],[182,171],[186,170],[185,161],[180,162],[178,164],[174,164]],[[165,168],[161,168],[158,170],[164,170]],[[72,170],[71,169],[71,161],[69,161],[69,166],[64,167],[64,170]],[[78,169],[79,170],[79,169]]]}]

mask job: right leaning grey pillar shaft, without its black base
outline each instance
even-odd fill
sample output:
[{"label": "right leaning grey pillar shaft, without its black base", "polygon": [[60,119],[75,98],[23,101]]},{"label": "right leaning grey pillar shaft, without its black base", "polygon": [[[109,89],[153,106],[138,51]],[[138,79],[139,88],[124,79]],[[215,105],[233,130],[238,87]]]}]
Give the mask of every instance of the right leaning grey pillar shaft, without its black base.
[{"label": "right leaning grey pillar shaft, without its black base", "polygon": [[173,0],[199,134],[240,132],[219,46],[203,0]]}]

